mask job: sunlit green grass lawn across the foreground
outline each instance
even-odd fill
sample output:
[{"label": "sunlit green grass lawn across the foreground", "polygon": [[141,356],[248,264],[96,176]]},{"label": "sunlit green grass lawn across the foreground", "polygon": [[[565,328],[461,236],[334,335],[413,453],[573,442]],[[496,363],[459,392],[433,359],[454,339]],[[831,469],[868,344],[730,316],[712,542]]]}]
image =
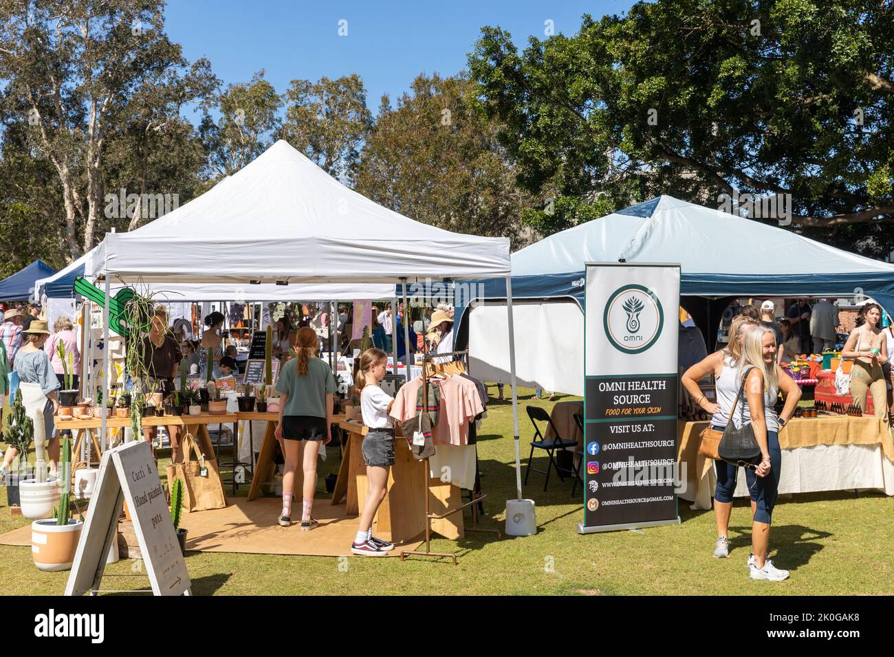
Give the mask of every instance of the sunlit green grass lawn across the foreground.
[{"label": "sunlit green grass lawn across the foreground", "polygon": [[[495,389],[492,387],[492,394]],[[526,404],[550,408],[520,391],[521,451],[527,457],[532,430]],[[573,398],[559,397],[558,400]],[[505,500],[515,497],[512,410],[494,402],[479,435],[482,485],[488,495],[483,526],[502,528]],[[162,452],[163,461],[166,455]],[[223,455],[222,455],[223,459]],[[543,459],[545,464],[545,459]],[[159,470],[164,473],[164,465]],[[322,476],[338,459],[321,464]],[[457,553],[460,565],[417,558],[351,558],[346,572],[331,557],[190,552],[186,559],[194,594],[894,594],[894,500],[881,493],[812,493],[781,500],[773,514],[771,556],[792,572],[781,583],[751,582],[746,571],[750,518],[746,500],[736,502],[730,523],[730,559],[713,559],[713,513],[681,501],[682,524],[637,532],[578,535],[582,493],[571,483],[532,473],[525,496],[536,500],[539,531],[525,538],[469,534],[460,542],[434,540],[437,552]],[[247,494],[248,486],[241,486]],[[5,506],[5,491],[0,502]],[[27,525],[0,507],[0,532]],[[467,526],[468,526],[467,516]],[[298,527],[295,527],[298,531]],[[148,588],[139,561],[106,569],[103,587]],[[552,569],[547,568],[552,565]],[[133,571],[137,570],[136,575]],[[132,577],[107,577],[108,575]],[[0,577],[7,593],[62,594],[68,573],[43,573],[27,547],[0,545]]]}]

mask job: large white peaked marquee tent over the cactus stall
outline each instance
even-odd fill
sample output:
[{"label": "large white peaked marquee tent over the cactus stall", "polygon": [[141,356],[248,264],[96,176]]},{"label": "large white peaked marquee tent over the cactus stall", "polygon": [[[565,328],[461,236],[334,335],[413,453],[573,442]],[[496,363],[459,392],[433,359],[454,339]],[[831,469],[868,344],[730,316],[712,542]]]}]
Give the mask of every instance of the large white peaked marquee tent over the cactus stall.
[{"label": "large white peaked marquee tent over the cactus stall", "polygon": [[[138,231],[107,234],[85,273],[104,278],[106,292],[113,279],[250,288],[277,282],[393,285],[504,277],[521,499],[508,239],[444,231],[392,212],[280,140],[185,206]],[[407,324],[404,332],[409,341]],[[103,417],[105,425],[105,412]]]}]

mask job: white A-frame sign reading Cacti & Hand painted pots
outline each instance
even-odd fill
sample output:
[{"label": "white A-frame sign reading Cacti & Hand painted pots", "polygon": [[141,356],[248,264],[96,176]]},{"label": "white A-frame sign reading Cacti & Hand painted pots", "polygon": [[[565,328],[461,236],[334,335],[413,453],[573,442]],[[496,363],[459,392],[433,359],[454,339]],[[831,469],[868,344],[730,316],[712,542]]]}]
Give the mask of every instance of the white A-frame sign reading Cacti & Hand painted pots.
[{"label": "white A-frame sign reading Cacti & Hand painted pots", "polygon": [[123,501],[131,512],[152,592],[190,595],[190,574],[174,533],[152,446],[146,441],[128,442],[103,454],[65,594],[83,595],[99,589],[105,560],[118,537]]}]

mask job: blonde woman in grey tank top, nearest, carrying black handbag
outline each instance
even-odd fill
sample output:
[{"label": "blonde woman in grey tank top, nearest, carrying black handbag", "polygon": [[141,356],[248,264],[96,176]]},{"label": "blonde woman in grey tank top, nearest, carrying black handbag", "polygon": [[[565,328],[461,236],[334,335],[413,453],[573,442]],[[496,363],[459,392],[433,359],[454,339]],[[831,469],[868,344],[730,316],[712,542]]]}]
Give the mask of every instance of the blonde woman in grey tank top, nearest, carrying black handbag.
[{"label": "blonde woman in grey tank top, nearest, carrying black handbag", "polygon": [[[755,500],[748,577],[771,582],[789,577],[788,570],[776,568],[767,559],[767,550],[782,467],[780,427],[789,421],[801,399],[801,389],[777,364],[776,357],[776,333],[772,329],[758,326],[746,334],[737,376],[738,382],[745,383],[745,399],[739,402],[741,413],[734,412],[732,418],[737,428],[751,425],[761,449],[760,463],[745,471],[748,493]],[[785,395],[785,407],[777,417],[773,407],[780,392]]]}]

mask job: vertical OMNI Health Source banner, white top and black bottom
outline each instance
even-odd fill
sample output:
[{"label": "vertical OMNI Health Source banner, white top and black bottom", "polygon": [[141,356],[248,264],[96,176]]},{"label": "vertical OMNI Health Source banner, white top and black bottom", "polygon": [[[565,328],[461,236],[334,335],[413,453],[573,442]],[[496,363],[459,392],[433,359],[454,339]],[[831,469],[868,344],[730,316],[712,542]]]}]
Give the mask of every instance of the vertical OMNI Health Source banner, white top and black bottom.
[{"label": "vertical OMNI Health Source banner, white top and black bottom", "polygon": [[586,264],[584,522],[676,525],[679,265]]}]

